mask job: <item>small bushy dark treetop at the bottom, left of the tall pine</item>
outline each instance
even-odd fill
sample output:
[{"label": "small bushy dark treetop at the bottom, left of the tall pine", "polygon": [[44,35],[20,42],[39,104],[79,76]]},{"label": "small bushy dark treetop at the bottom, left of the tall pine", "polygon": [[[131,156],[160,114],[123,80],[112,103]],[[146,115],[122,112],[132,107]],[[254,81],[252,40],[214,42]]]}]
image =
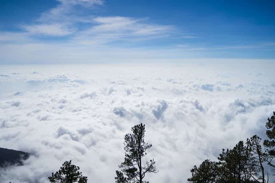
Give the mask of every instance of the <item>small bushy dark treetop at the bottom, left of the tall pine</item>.
[{"label": "small bushy dark treetop at the bottom, left of the tall pine", "polygon": [[82,172],[79,172],[79,167],[72,165],[72,161],[65,161],[62,167],[55,174],[52,173],[51,177],[48,177],[50,182],[53,183],[87,183],[87,177],[82,176]]}]

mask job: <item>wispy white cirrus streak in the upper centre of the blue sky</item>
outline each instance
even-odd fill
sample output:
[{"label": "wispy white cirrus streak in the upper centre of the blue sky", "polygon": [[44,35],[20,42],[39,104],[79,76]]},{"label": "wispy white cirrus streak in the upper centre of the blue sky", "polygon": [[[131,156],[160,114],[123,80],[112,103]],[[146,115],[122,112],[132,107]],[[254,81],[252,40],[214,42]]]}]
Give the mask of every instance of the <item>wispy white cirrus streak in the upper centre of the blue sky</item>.
[{"label": "wispy white cirrus streak in the upper centre of the blue sky", "polygon": [[96,17],[94,26],[80,31],[74,40],[80,44],[105,44],[113,41],[144,41],[168,37],[173,26],[154,25],[130,17]]}]

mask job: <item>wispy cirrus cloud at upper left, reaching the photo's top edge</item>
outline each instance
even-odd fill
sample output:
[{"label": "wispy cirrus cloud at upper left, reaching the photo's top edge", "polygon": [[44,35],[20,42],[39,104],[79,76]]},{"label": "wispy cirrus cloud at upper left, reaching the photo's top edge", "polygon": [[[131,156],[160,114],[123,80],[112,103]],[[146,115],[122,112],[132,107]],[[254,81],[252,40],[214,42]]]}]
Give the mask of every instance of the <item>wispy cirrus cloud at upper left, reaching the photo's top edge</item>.
[{"label": "wispy cirrus cloud at upper left, reaching the photo's top edge", "polygon": [[79,7],[95,9],[103,5],[101,0],[57,0],[60,4],[41,13],[33,24],[21,25],[21,28],[30,34],[42,34],[48,36],[66,36],[77,31],[76,23],[90,19],[81,15]]}]

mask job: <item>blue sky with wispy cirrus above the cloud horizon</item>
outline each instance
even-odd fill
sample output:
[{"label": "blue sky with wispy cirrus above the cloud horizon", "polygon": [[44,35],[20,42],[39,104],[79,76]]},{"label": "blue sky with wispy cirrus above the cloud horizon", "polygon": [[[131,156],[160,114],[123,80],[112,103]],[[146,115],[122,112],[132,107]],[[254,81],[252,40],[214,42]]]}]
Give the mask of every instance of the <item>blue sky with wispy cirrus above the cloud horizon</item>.
[{"label": "blue sky with wispy cirrus above the cloud horizon", "polygon": [[272,1],[1,1],[0,63],[275,59],[274,7]]}]

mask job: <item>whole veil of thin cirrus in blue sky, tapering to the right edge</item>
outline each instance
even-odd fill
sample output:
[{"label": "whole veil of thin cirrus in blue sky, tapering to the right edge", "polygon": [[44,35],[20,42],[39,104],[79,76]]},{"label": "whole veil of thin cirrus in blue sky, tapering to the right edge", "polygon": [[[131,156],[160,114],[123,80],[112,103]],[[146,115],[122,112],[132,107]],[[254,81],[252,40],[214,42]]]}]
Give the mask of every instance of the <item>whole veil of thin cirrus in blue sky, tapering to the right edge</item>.
[{"label": "whole veil of thin cirrus in blue sky, tapering to the right edge", "polygon": [[0,31],[1,63],[178,59],[200,57],[212,50],[273,49],[274,45],[271,42],[215,47],[199,42],[199,35],[147,17],[97,15],[105,5],[101,0],[57,1],[56,7],[42,12],[32,23],[19,25],[21,31]]}]

